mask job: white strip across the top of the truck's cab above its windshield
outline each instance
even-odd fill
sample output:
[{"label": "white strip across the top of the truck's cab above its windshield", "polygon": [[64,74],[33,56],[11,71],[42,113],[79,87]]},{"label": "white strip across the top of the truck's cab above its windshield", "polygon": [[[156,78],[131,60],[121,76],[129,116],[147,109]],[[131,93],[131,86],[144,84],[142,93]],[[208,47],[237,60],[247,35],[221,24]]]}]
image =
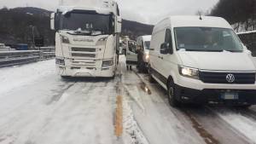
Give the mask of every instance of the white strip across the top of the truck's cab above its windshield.
[{"label": "white strip across the top of the truck's cab above its windshield", "polygon": [[110,14],[113,12],[113,9],[109,8],[97,8],[97,7],[78,7],[78,6],[60,6],[58,11],[62,12],[62,14],[67,14],[70,11],[76,10],[93,10],[98,14]]}]

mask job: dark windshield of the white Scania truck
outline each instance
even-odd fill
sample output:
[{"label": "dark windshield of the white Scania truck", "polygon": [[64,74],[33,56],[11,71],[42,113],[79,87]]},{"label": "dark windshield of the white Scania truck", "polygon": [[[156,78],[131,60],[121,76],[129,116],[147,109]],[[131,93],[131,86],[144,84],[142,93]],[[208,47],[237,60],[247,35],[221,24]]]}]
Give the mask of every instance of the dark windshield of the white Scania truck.
[{"label": "dark windshield of the white Scania truck", "polygon": [[[61,14],[62,15],[62,14]],[[67,13],[61,16],[61,30],[76,34],[112,34],[113,20],[110,14]]]}]

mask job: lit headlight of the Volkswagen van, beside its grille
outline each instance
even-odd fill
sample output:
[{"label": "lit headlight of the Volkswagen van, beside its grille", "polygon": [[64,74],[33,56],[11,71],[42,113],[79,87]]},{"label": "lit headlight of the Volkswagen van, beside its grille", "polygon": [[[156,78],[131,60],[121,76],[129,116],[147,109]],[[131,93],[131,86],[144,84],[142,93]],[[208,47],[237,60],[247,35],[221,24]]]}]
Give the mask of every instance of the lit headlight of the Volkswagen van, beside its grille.
[{"label": "lit headlight of the Volkswagen van, beside its grille", "polygon": [[178,66],[178,72],[183,77],[199,79],[199,70],[196,68]]}]

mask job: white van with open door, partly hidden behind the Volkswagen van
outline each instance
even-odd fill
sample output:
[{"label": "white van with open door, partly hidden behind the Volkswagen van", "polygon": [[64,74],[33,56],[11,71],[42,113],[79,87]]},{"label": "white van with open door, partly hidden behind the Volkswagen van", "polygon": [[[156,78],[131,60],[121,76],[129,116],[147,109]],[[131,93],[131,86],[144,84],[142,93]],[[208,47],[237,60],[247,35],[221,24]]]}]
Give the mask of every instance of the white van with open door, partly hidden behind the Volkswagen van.
[{"label": "white van with open door, partly hidden behind the Volkswagen van", "polygon": [[137,47],[143,50],[142,60],[138,60],[139,72],[148,69],[150,40],[151,35],[137,37]]}]

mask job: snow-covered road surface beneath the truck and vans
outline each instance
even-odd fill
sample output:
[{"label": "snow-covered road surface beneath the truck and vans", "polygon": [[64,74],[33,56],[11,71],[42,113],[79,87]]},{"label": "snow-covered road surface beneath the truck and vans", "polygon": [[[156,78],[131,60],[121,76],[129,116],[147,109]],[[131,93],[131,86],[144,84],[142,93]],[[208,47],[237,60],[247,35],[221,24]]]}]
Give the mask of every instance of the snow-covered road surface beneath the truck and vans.
[{"label": "snow-covered road surface beneath the truck and vans", "polygon": [[61,79],[45,60],[1,68],[0,82],[0,144],[256,143],[256,107],[172,108],[147,74],[126,71],[124,56],[114,79]]}]

